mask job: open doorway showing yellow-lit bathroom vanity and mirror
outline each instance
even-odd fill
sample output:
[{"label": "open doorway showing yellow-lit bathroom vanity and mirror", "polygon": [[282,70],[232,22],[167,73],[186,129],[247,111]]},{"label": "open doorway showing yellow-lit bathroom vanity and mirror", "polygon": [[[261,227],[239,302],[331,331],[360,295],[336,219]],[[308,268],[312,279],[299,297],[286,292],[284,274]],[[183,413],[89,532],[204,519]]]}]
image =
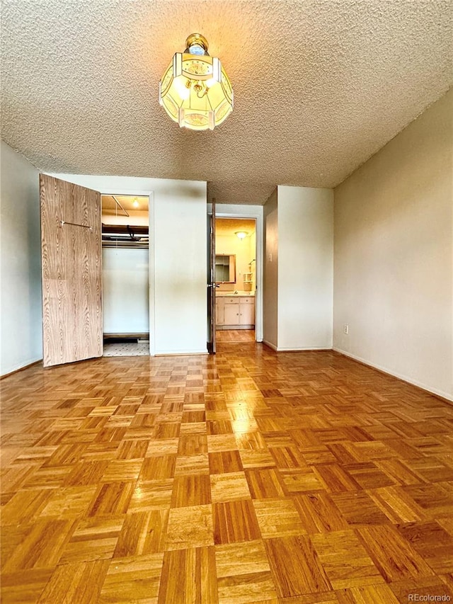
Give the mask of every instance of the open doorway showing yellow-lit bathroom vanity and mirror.
[{"label": "open doorway showing yellow-lit bathroom vanity and mirror", "polygon": [[215,219],[216,340],[256,341],[256,219]]}]

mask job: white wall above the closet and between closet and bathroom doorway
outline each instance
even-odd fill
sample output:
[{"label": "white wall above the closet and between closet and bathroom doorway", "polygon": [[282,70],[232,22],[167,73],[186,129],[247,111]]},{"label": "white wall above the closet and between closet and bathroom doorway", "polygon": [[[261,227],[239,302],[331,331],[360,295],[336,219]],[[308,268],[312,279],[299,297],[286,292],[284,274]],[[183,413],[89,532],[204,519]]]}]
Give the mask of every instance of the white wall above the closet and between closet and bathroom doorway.
[{"label": "white wall above the closet and between closet and bathroom doorway", "polygon": [[151,195],[151,351],[154,342],[156,354],[206,353],[206,183],[132,176],[52,176],[105,194]]}]

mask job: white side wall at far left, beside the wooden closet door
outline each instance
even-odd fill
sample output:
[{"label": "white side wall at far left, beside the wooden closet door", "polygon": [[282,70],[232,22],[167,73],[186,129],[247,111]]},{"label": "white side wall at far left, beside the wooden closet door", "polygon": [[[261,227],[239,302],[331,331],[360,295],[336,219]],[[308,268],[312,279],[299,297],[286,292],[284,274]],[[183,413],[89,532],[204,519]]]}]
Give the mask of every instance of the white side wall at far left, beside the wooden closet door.
[{"label": "white side wall at far left, beside the wooden closet door", "polygon": [[0,375],[42,359],[38,175],[1,141]]}]

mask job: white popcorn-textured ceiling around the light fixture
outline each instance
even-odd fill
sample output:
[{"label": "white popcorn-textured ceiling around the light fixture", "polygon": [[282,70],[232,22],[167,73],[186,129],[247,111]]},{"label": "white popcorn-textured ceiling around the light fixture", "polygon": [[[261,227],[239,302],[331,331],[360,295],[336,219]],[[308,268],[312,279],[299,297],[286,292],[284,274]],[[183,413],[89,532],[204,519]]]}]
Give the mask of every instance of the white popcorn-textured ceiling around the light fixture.
[{"label": "white popcorn-textured ceiling around the light fixture", "polygon": [[[4,140],[43,171],[208,181],[217,203],[332,187],[451,86],[452,0],[2,0]],[[180,129],[159,79],[188,34],[234,88]]]}]

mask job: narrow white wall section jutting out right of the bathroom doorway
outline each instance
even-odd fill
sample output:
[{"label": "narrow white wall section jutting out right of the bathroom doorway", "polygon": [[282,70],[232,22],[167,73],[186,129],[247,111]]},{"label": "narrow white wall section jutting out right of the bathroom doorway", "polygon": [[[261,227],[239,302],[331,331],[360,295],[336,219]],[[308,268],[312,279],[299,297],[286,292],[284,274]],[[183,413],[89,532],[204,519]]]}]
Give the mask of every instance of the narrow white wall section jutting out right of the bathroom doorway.
[{"label": "narrow white wall section jutting out right of the bathroom doorway", "polygon": [[330,349],[333,190],[278,186],[277,207],[277,349]]}]

